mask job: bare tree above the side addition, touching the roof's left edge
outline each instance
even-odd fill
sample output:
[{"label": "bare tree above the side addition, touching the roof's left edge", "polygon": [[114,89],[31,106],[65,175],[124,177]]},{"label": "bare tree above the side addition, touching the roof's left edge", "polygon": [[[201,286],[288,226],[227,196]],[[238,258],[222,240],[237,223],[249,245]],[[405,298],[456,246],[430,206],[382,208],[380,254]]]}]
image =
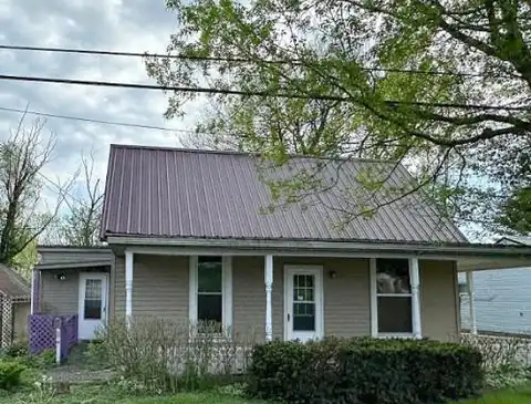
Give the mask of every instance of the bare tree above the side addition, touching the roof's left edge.
[{"label": "bare tree above the side addition, touching the roof's left edge", "polygon": [[[58,244],[69,246],[96,246],[103,208],[101,179],[94,178],[94,155],[82,157],[84,195],[65,197],[69,211],[58,220],[55,232]],[[49,235],[50,237],[50,235]]]}]

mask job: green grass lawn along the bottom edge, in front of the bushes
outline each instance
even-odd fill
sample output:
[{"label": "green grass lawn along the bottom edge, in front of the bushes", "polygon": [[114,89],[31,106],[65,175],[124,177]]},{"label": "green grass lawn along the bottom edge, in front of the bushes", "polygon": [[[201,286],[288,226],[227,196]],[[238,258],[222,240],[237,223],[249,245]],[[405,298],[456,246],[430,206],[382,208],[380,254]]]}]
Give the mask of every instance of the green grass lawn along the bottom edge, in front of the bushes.
[{"label": "green grass lawn along the bottom edge, in front of the bushes", "polygon": [[[31,401],[28,393],[19,393],[0,396],[0,403],[40,404],[41,402]],[[215,392],[181,393],[174,396],[134,396],[110,385],[93,385],[73,386],[71,393],[58,394],[46,404],[266,404],[266,402]],[[459,404],[531,404],[531,384],[518,390],[488,393],[480,398],[459,402]]]}]

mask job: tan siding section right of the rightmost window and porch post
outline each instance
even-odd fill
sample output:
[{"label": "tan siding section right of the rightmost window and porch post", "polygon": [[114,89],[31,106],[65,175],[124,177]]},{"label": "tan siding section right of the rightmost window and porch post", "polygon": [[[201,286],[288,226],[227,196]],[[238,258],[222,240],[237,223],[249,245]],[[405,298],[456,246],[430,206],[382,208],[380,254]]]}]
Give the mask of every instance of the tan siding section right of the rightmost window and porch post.
[{"label": "tan siding section right of the rightmost window and porch post", "polygon": [[454,261],[419,261],[423,336],[454,340],[458,333]]}]

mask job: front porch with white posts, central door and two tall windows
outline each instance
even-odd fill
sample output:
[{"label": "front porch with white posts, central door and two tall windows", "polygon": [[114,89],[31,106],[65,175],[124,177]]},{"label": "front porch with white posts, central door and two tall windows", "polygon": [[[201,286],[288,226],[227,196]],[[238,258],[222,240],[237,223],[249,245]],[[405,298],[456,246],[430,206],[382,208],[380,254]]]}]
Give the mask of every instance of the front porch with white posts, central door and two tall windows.
[{"label": "front porch with white posts, central door and two tall windows", "polygon": [[219,321],[262,341],[459,333],[450,259],[132,248],[116,257],[111,283],[115,315]]}]

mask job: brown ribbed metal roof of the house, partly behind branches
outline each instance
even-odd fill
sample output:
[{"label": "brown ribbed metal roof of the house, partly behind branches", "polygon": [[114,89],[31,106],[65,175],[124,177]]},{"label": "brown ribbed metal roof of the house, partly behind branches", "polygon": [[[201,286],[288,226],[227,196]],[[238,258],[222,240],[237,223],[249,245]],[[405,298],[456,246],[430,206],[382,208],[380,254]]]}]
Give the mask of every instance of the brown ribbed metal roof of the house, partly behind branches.
[{"label": "brown ribbed metal roof of the house, partly behind branches", "polygon": [[[304,204],[263,213],[272,199],[261,178],[288,178],[323,163],[320,178],[334,186]],[[266,168],[259,156],[243,153],[112,145],[102,237],[466,242],[418,194],[379,208],[371,218],[355,216],[341,225],[355,198],[389,200],[362,188],[356,179],[361,174],[388,176],[395,190],[412,180],[404,167],[394,167],[293,156],[281,168]]]}]

